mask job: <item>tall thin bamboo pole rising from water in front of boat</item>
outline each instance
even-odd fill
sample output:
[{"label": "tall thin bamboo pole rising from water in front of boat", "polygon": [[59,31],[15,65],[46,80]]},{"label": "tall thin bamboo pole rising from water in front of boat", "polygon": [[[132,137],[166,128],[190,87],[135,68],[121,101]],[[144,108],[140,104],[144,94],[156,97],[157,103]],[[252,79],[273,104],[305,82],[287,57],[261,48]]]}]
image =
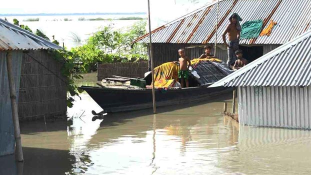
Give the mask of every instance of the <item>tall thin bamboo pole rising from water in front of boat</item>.
[{"label": "tall thin bamboo pole rising from water in front of boat", "polygon": [[151,62],[151,76],[152,76],[152,103],[153,103],[153,113],[156,113],[155,108],[155,93],[154,93],[154,67],[152,60],[152,45],[151,45],[151,25],[150,25],[150,1],[148,0],[148,25],[149,25],[149,59]]}]

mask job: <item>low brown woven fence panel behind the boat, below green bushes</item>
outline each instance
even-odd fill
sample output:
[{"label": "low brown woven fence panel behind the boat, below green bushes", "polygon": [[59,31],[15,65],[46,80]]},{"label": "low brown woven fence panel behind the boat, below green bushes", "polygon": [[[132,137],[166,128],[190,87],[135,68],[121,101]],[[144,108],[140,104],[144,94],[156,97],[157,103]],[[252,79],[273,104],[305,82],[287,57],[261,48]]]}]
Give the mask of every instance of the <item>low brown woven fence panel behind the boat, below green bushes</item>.
[{"label": "low brown woven fence panel behind the boat, below green bushes", "polygon": [[112,75],[125,77],[144,77],[144,73],[148,70],[148,62],[114,62],[114,63],[98,63],[97,80],[101,80]]}]

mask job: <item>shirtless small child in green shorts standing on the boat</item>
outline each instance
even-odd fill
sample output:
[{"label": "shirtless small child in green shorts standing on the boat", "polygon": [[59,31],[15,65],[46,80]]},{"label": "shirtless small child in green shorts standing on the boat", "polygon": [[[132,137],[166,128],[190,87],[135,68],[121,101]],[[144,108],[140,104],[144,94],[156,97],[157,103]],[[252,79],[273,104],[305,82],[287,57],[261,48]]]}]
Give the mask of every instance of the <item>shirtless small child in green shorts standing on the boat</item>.
[{"label": "shirtless small child in green shorts standing on the boat", "polygon": [[[183,79],[185,81],[186,87],[189,87],[189,71],[188,67],[191,66],[191,62],[188,56],[185,55],[184,49],[180,48],[178,50],[179,53],[179,71],[178,71],[178,78],[180,79],[180,85],[183,87]],[[189,62],[189,65],[187,63]]]}]

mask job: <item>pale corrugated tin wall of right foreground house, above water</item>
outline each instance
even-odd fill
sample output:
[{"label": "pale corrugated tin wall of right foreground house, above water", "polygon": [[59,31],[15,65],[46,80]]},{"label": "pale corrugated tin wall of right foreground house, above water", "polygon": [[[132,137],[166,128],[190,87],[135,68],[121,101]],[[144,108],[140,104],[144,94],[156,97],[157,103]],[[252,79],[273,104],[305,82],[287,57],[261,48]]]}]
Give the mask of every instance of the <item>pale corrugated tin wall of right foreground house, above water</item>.
[{"label": "pale corrugated tin wall of right foreground house, above water", "polygon": [[240,124],[311,128],[311,87],[239,86]]}]

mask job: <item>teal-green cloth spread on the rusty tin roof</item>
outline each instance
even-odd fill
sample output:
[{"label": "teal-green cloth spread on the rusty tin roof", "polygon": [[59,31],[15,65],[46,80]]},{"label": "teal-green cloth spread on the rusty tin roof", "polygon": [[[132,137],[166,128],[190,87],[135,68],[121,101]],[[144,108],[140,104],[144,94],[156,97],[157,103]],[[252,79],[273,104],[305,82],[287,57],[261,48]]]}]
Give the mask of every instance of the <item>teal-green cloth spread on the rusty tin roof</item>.
[{"label": "teal-green cloth spread on the rusty tin roof", "polygon": [[249,20],[242,24],[240,39],[258,37],[262,28],[262,20]]}]

